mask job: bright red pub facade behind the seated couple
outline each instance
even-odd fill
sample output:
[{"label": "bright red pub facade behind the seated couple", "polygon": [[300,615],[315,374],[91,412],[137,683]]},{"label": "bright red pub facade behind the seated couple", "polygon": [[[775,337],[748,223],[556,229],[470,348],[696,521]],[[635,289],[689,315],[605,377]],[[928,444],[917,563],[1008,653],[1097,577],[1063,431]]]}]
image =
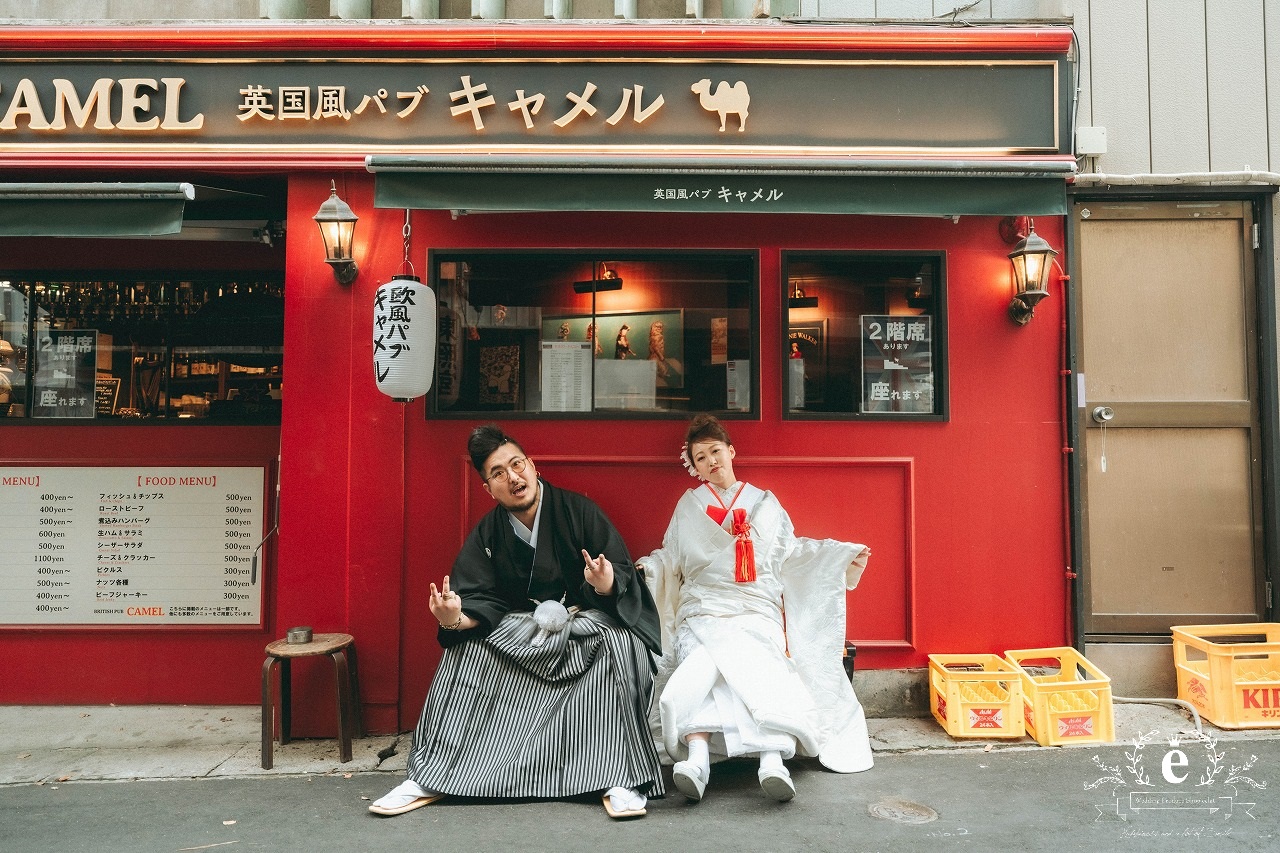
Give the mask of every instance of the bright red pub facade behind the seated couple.
[{"label": "bright red pub facade behind the seated couple", "polygon": [[[1062,250],[1064,188],[1074,167],[1069,31],[411,26],[114,32],[24,27],[5,35],[0,106],[6,106],[14,129],[8,138],[0,137],[4,181],[174,181],[239,191],[261,184],[275,188],[284,211],[283,237],[271,245],[8,236],[0,238],[8,268],[31,280],[41,270],[92,278],[104,268],[140,277],[172,269],[187,277],[192,270],[228,273],[239,280],[278,275],[283,282],[283,364],[268,377],[276,379],[274,391],[283,391],[284,378],[288,388],[278,394],[278,423],[270,416],[221,423],[214,418],[123,423],[100,416],[73,423],[31,412],[0,421],[4,464],[14,469],[248,466],[265,471],[262,529],[255,533],[266,540],[251,590],[261,596],[256,624],[50,625],[10,617],[0,629],[9,652],[0,665],[8,702],[251,704],[257,701],[262,647],[291,626],[310,625],[356,637],[366,726],[404,730],[416,719],[439,657],[435,624],[426,611],[428,584],[448,571],[463,537],[490,506],[465,456],[466,435],[477,423],[503,424],[544,476],[600,503],[635,556],[658,547],[676,500],[690,484],[676,448],[692,414],[682,406],[694,406],[696,397],[690,392],[690,402],[681,403],[680,394],[659,394],[666,402],[643,411],[596,405],[579,414],[550,411],[544,392],[540,407],[451,409],[438,396],[438,375],[435,396],[396,402],[378,391],[372,377],[372,298],[379,284],[403,272],[406,259],[435,288],[442,316],[449,310],[447,289],[457,289],[442,270],[454,269],[445,264],[463,263],[458,259],[526,263],[566,256],[577,263],[617,257],[623,259],[616,261],[617,269],[626,269],[628,260],[631,269],[639,269],[637,264],[669,256],[691,264],[703,256],[728,256],[745,265],[745,307],[731,314],[741,347],[733,357],[750,374],[745,386],[750,402],[718,409],[739,450],[740,475],[774,491],[799,534],[870,546],[870,566],[859,589],[849,594],[847,638],[858,647],[859,669],[920,667],[933,652],[1002,652],[1071,642],[1065,293],[1053,275],[1050,296],[1034,319],[1027,325],[1010,321],[1007,255],[1012,246],[1006,222],[1034,215],[1036,232]],[[429,143],[403,134],[387,138],[381,131],[361,129],[372,127],[371,122],[360,126],[355,119],[333,132],[316,123],[305,136],[300,131],[270,141],[246,131],[239,138],[236,127],[252,122],[234,114],[224,117],[234,119],[225,122],[229,131],[215,127],[210,117],[209,138],[202,136],[206,128],[191,127],[169,134],[122,137],[105,129],[95,134],[86,129],[88,120],[70,138],[32,128],[40,110],[54,124],[56,101],[47,99],[55,91],[49,82],[58,74],[45,74],[44,67],[84,64],[108,50],[141,69],[129,70],[129,79],[154,81],[142,90],[151,93],[151,101],[132,108],[115,101],[113,115],[119,119],[122,109],[132,109],[138,122],[168,122],[165,109],[173,106],[174,126],[195,120],[197,101],[183,101],[186,95],[172,93],[177,83],[166,90],[160,81],[182,76],[183,91],[191,91],[200,85],[191,69],[207,64],[220,73],[225,64],[243,73],[244,63],[269,64],[259,60],[289,69],[296,63],[302,70],[323,68],[317,60],[384,63],[401,70],[415,63],[449,65],[453,79],[472,70],[476,81],[474,68],[509,67],[522,73],[521,63],[532,63],[529,67],[539,73],[564,67],[594,74],[596,67],[630,63],[627,73],[636,78],[649,64],[675,65],[687,74],[701,65],[705,77],[728,82],[731,76],[722,72],[731,63],[748,70],[755,63],[773,64],[783,77],[792,70],[814,74],[797,79],[808,86],[804,91],[819,95],[809,108],[797,108],[818,111],[788,131],[795,138],[762,140],[744,131],[745,141],[732,138],[736,114],[728,115],[728,129],[722,133],[705,105],[703,118],[710,123],[696,131],[704,136],[695,141],[689,138],[694,131],[673,124],[636,141],[575,140],[566,136],[575,132],[568,127],[561,136],[548,128],[543,136],[518,142],[511,141],[521,133],[518,128],[507,132],[509,140],[497,132],[477,136],[465,111],[453,114],[448,124],[457,140]],[[465,61],[474,61],[474,68],[457,68]],[[180,68],[173,70],[165,63]],[[1032,91],[1029,111],[993,127],[991,117],[1000,110],[989,104],[987,111],[977,108],[983,88],[991,83],[996,86],[991,91],[998,92],[1000,86],[1021,86],[1027,79],[1000,74],[1028,68],[1032,77],[1027,79],[1034,83],[1041,79],[1036,74],[1043,74],[1047,85]],[[113,78],[124,79],[125,70]],[[99,72],[88,68],[86,79],[96,79]],[[965,74],[977,72],[992,76],[960,86],[973,90],[974,101],[957,95],[948,102],[931,88],[938,81],[964,82]],[[852,74],[849,82],[838,77],[845,73]],[[863,115],[844,114],[842,95],[804,82],[827,76],[838,83],[835,91],[870,79],[858,77],[869,73],[890,74],[886,85],[897,88],[874,90],[868,83],[865,97],[872,100]],[[908,76],[892,77],[899,73]],[[396,93],[413,91],[403,82],[411,77],[394,78],[398,82],[381,105],[374,97],[365,108],[369,117],[383,108],[390,113],[407,109],[410,96],[397,100]],[[37,78],[45,82],[36,83],[35,100],[10,97],[19,79]],[[575,77],[575,85],[582,79]],[[913,79],[914,95],[908,91]],[[300,76],[298,82],[319,97],[320,77]],[[88,83],[72,85],[79,86],[83,106]],[[280,97],[282,86],[268,88]],[[451,102],[447,87],[428,88],[433,92],[428,97],[438,99],[436,110]],[[119,96],[124,90],[111,91]],[[369,91],[376,95],[376,88]],[[581,96],[585,90],[570,91]],[[650,82],[648,93],[636,92],[634,108],[652,106],[655,91],[658,86]],[[677,101],[675,86],[662,92],[672,113],[678,104],[700,115],[690,93],[684,93],[686,102]],[[349,92],[346,104],[352,114],[355,95]],[[617,105],[614,95],[608,109],[600,102],[596,122]],[[768,110],[777,99],[771,101],[759,91],[753,95],[751,118],[745,120],[749,127],[751,122],[768,126]],[[239,95],[241,115],[244,97]],[[988,95],[987,100],[996,99]],[[33,106],[37,102],[40,110]],[[552,114],[568,115],[573,102],[548,102],[538,133]],[[308,114],[320,109],[310,104]],[[918,127],[904,127],[893,118],[904,113],[918,119]],[[498,114],[509,118],[516,110],[498,104],[490,115]],[[632,115],[626,113],[627,120]],[[41,119],[35,120],[38,126]],[[490,128],[495,126],[494,119]],[[901,145],[895,133],[925,141]],[[1023,143],[1023,136],[1043,141]],[[389,177],[406,174],[403,181]],[[714,175],[717,186],[749,181],[758,188],[773,187],[786,206],[776,213],[664,207],[659,190],[708,183],[692,175]],[[609,181],[620,187],[616,195],[593,195],[595,182]],[[338,283],[325,265],[325,247],[312,223],[330,186],[360,218],[353,251],[360,274],[351,284]],[[635,187],[640,191],[632,192]],[[1021,223],[1012,224],[1016,231]],[[860,405],[855,394],[847,407],[815,405],[817,394],[805,402],[791,396],[788,339],[792,329],[804,325],[801,319],[820,318],[814,323],[824,329],[824,366],[831,366],[837,364],[841,334],[865,342],[873,321],[865,318],[892,316],[897,310],[893,297],[884,309],[850,304],[838,316],[823,313],[824,304],[841,305],[842,291],[826,287],[822,275],[809,279],[800,270],[840,266],[846,257],[928,261],[929,275],[936,278],[925,287],[933,298],[924,310],[934,341],[927,368],[934,400],[927,409],[877,414],[867,394]],[[596,295],[600,305],[608,296],[620,300],[612,305],[632,313],[680,307],[686,313],[681,316],[689,318],[686,334],[700,333],[692,330],[699,284],[663,291],[658,284],[646,287],[640,273],[623,277],[636,284],[616,295]],[[804,293],[819,300],[817,313],[803,318],[794,314],[796,304],[790,301],[801,282]],[[919,287],[911,291],[910,282],[905,287],[908,297],[920,297]],[[509,293],[502,298],[521,306]],[[590,295],[582,298],[573,305],[588,306],[584,310],[595,318]],[[489,316],[493,305],[494,298],[484,301]],[[526,305],[541,305],[544,318],[553,314],[545,300]],[[492,329],[485,324],[492,320],[483,323],[479,316],[470,323],[463,314],[458,321],[457,334]],[[844,333],[841,323],[849,327]],[[691,353],[694,341],[685,343]],[[723,361],[713,353],[710,364],[704,373],[722,382]],[[831,368],[826,374],[828,391],[840,379],[835,371]],[[540,375],[545,386],[548,374]],[[844,379],[867,388],[858,377]],[[466,380],[461,365],[457,380]],[[175,405],[175,392],[168,396]],[[50,661],[70,666],[50,666]],[[321,670],[303,670],[294,679],[298,694],[328,690]],[[310,725],[324,730],[330,724],[320,712]]]}]

